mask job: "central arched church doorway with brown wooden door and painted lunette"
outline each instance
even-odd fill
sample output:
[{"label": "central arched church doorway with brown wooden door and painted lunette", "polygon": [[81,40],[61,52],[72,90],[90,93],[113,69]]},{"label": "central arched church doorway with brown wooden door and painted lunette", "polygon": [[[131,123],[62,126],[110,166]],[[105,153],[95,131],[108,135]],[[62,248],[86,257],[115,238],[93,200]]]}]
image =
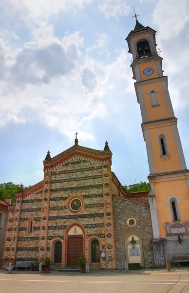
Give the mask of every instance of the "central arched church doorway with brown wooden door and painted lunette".
[{"label": "central arched church doorway with brown wooden door and painted lunette", "polygon": [[67,266],[77,267],[77,259],[84,251],[83,230],[75,225],[68,230],[67,234]]}]

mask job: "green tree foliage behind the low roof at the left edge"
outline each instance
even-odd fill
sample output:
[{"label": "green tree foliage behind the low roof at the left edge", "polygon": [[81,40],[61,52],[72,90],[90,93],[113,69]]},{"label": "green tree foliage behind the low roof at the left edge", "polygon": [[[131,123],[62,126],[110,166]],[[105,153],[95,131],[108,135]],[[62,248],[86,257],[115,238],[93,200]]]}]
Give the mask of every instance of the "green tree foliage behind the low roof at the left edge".
[{"label": "green tree foliage behind the low roof at the left edge", "polygon": [[[30,186],[29,186],[30,187]],[[24,187],[26,190],[29,187]],[[10,195],[12,197],[12,203],[15,203],[15,192],[19,190],[19,184],[14,184],[12,182],[0,183],[0,200],[5,201],[5,197]]]}]

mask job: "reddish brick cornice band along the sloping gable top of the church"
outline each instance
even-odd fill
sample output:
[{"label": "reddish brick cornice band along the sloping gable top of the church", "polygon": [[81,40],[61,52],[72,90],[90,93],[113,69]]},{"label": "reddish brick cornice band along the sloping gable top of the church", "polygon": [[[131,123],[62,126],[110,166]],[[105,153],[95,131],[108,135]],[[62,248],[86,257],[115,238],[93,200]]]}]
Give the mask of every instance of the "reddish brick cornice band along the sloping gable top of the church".
[{"label": "reddish brick cornice band along the sloping gable top of the church", "polygon": [[51,158],[51,160],[43,161],[44,171],[54,171],[65,164],[76,161],[112,164],[112,152],[75,145]]}]

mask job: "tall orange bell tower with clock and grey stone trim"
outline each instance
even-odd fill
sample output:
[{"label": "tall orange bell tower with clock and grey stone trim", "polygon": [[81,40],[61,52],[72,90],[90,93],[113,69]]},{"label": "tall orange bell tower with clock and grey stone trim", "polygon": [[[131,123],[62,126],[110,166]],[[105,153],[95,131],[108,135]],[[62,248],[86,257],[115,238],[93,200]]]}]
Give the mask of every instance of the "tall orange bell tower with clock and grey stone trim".
[{"label": "tall orange bell tower with clock and grey stone trim", "polygon": [[[174,116],[168,77],[163,75],[156,31],[138,22],[126,41],[142,116],[151,183],[149,203],[156,266],[189,250],[189,170]],[[173,252],[174,251],[174,252]]]}]

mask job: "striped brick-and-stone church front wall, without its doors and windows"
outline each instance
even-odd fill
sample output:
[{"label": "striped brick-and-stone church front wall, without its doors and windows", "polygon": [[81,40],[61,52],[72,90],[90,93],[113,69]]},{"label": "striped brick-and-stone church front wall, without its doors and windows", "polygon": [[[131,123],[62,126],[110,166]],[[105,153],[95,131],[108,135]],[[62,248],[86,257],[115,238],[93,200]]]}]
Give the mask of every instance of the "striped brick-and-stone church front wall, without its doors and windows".
[{"label": "striped brick-and-stone church front wall, without its doors and windows", "polygon": [[[123,217],[116,216],[117,202],[112,195],[125,197],[128,194],[111,171],[112,152],[107,144],[104,151],[99,151],[78,146],[76,140],[75,146],[54,158],[48,152],[43,162],[44,180],[25,191],[20,188],[16,193],[16,204],[8,207],[3,267],[9,262],[22,260],[42,262],[46,256],[51,258],[53,268],[67,266],[68,233],[72,227],[77,226],[83,233],[83,249],[90,268],[119,268],[119,260],[115,258],[120,251],[117,244],[115,251],[115,243],[119,240],[117,236],[114,239],[114,229],[117,233],[121,219],[123,223],[120,224],[120,229],[123,229],[125,212]],[[117,190],[117,185],[120,190]],[[136,197],[137,195],[135,199]],[[82,203],[78,211],[70,208],[73,199],[79,199]],[[126,209],[131,209],[131,202],[123,201],[123,205],[127,203]],[[132,204],[138,212],[138,203]],[[147,206],[146,204],[143,209],[145,219],[149,217]],[[142,224],[142,229],[143,225],[146,222]],[[144,245],[150,243],[146,239],[147,230],[142,234],[145,237]],[[150,237],[151,227],[148,238]],[[106,255],[95,264],[91,263],[91,242],[94,239],[99,241],[99,251],[105,251]],[[60,264],[54,263],[56,241],[62,244]],[[124,251],[123,246],[121,249]],[[120,253],[124,253],[123,251]],[[145,261],[147,266],[152,262],[146,254]]]}]

